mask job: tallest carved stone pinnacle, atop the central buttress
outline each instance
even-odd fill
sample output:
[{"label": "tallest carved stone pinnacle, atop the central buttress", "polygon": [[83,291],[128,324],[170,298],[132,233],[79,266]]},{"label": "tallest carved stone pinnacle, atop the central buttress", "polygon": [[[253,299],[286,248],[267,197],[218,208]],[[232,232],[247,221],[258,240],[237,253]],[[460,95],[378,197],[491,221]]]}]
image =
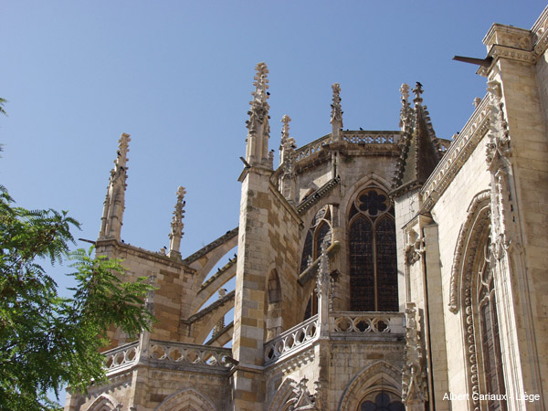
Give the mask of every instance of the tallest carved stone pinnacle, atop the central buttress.
[{"label": "tallest carved stone pinnacle, atop the central buttress", "polygon": [[255,74],[255,91],[249,101],[248,147],[246,160],[251,165],[269,165],[269,68],[265,63],[258,63]]}]

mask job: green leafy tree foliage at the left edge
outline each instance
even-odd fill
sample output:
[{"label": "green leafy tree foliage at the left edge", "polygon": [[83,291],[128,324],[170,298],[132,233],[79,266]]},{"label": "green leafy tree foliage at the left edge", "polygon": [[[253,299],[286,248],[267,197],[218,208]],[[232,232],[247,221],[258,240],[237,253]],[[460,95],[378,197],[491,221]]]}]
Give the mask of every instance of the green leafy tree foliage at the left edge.
[{"label": "green leafy tree foliage at the left edge", "polygon": [[[112,324],[133,337],[150,330],[153,315],[143,301],[153,288],[144,278],[122,282],[120,260],[93,258],[92,249],[70,253],[70,228],[79,223],[67,212],[13,202],[0,185],[0,409],[52,409],[48,390],[85,392],[105,381],[99,350]],[[72,298],[58,295],[43,258],[72,261]]]}]

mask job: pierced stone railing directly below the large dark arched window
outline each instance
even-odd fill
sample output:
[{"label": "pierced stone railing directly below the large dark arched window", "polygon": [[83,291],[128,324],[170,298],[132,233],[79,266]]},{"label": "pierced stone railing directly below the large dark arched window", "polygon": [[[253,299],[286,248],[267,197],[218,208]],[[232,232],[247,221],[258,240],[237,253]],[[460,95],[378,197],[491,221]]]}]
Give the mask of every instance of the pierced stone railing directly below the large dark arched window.
[{"label": "pierced stone railing directly below the large dark arched window", "polygon": [[405,334],[405,318],[401,312],[339,311],[330,314],[332,334]]}]

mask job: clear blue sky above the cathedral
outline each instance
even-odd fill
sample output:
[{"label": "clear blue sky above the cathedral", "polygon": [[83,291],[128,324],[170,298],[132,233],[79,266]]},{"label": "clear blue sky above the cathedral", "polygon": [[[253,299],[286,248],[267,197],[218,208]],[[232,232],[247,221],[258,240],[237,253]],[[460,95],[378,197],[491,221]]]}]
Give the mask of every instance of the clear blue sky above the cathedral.
[{"label": "clear blue sky above the cathedral", "polygon": [[437,136],[449,139],[486,90],[475,66],[451,58],[485,57],[492,23],[531,28],[544,6],[0,0],[0,184],[17,205],[69,210],[82,223],[76,237],[94,240],[118,139],[130,133],[121,237],[168,246],[184,185],[186,257],[237,227],[258,62],[270,71],[270,148],[284,114],[298,146],[331,132],[333,82],[344,129],[397,130],[400,85],[420,81]]}]

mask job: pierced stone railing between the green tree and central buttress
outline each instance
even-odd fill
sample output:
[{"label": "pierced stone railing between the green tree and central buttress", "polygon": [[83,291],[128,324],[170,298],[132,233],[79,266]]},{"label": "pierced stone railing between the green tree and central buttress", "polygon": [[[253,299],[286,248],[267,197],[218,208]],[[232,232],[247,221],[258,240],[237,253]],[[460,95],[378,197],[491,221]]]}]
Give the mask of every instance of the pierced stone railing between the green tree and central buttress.
[{"label": "pierced stone railing between the green tree and central buttress", "polygon": [[208,347],[184,342],[151,340],[149,357],[167,364],[194,364],[215,368],[228,368],[233,363],[230,348]]}]

